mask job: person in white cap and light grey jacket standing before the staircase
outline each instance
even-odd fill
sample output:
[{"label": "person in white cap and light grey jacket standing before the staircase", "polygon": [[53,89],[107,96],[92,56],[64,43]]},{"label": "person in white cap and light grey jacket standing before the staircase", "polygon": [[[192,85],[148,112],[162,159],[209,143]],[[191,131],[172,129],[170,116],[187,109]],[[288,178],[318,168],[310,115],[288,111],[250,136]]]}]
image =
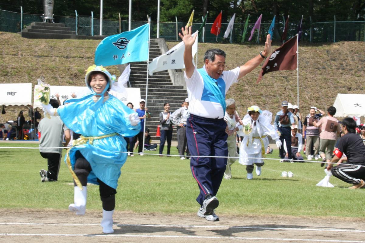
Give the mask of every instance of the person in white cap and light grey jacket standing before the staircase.
[{"label": "person in white cap and light grey jacket standing before the staircase", "polygon": [[189,117],[188,112],[189,107],[189,99],[186,98],[183,101],[183,107],[174,111],[171,116],[170,120],[174,125],[176,125],[176,133],[177,133],[177,149],[179,151],[180,159],[185,159],[185,151],[186,155],[189,156],[189,148],[188,148],[188,141],[186,138],[186,119]]}]

